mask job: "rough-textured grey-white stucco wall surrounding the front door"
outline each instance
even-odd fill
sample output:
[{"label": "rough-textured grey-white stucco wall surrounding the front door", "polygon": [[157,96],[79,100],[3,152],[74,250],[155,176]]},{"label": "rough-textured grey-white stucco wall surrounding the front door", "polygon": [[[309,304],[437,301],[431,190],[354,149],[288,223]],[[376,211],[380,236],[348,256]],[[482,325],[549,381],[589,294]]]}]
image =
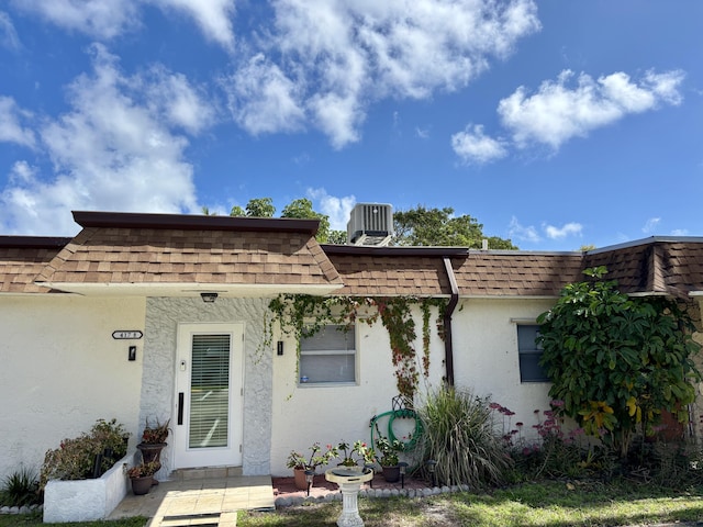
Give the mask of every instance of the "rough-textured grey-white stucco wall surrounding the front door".
[{"label": "rough-textured grey-white stucco wall surrounding the front door", "polygon": [[[152,298],[146,303],[144,383],[140,423],[148,417],[171,419],[176,426],[177,329],[179,323],[244,323],[244,423],[243,461],[245,475],[269,473],[271,437],[271,356],[261,348],[266,299],[225,299],[205,304],[200,298]],[[175,433],[178,433],[176,430]],[[172,439],[172,438],[171,438]],[[172,441],[161,452],[158,479],[174,469]],[[225,463],[226,464],[226,463]]]}]

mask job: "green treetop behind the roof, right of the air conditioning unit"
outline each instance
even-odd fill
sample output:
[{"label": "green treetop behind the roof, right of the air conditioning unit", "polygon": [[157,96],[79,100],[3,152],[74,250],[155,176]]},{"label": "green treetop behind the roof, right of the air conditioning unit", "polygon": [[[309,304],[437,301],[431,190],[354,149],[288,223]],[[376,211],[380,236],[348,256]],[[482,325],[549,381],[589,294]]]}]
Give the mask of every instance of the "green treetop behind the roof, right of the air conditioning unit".
[{"label": "green treetop behind the roof, right of the air conditioning unit", "polygon": [[393,212],[393,245],[457,246],[480,249],[488,239],[491,249],[517,249],[510,239],[483,234],[483,225],[468,214],[454,215],[454,209],[426,209],[417,205]]}]

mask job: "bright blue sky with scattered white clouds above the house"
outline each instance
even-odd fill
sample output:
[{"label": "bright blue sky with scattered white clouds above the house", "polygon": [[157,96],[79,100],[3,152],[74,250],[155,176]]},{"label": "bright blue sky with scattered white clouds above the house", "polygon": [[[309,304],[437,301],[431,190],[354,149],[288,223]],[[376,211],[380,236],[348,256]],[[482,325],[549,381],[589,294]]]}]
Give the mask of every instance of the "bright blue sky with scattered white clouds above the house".
[{"label": "bright blue sky with scattered white clouds above the house", "polygon": [[703,235],[702,52],[699,0],[2,0],[0,234],[270,197]]}]

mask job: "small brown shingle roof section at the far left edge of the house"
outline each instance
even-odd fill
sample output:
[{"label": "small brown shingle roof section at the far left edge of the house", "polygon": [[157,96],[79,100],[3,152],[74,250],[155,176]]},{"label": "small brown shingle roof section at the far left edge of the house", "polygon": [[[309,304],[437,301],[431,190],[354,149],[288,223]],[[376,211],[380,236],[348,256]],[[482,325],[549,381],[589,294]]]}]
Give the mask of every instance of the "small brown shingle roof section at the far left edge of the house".
[{"label": "small brown shingle roof section at the far left edge of the house", "polygon": [[34,277],[70,238],[0,236],[0,293],[46,293]]}]

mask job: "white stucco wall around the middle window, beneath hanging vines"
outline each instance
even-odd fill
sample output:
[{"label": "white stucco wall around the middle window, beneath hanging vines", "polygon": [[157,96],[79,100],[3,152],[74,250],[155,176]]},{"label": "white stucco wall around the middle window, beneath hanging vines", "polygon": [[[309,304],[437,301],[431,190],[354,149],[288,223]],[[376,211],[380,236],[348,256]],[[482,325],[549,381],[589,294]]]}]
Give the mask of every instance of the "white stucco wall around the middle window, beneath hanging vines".
[{"label": "white stucco wall around the middle window, beneath hanging vines", "polygon": [[[429,378],[421,374],[421,389],[442,382],[444,375],[444,343],[435,329],[433,311],[432,356]],[[422,354],[422,314],[414,310],[417,340],[415,349]],[[309,455],[315,441],[323,447],[341,440],[370,440],[369,422],[375,415],[392,410],[398,395],[391,362],[388,332],[380,321],[372,326],[364,322],[356,326],[357,385],[299,385],[297,379],[297,345],[283,338],[283,356],[274,357],[274,410],[271,437],[271,473],[290,475],[286,459],[291,450]],[[281,336],[275,337],[275,340]],[[421,370],[422,371],[422,370]]]}]

